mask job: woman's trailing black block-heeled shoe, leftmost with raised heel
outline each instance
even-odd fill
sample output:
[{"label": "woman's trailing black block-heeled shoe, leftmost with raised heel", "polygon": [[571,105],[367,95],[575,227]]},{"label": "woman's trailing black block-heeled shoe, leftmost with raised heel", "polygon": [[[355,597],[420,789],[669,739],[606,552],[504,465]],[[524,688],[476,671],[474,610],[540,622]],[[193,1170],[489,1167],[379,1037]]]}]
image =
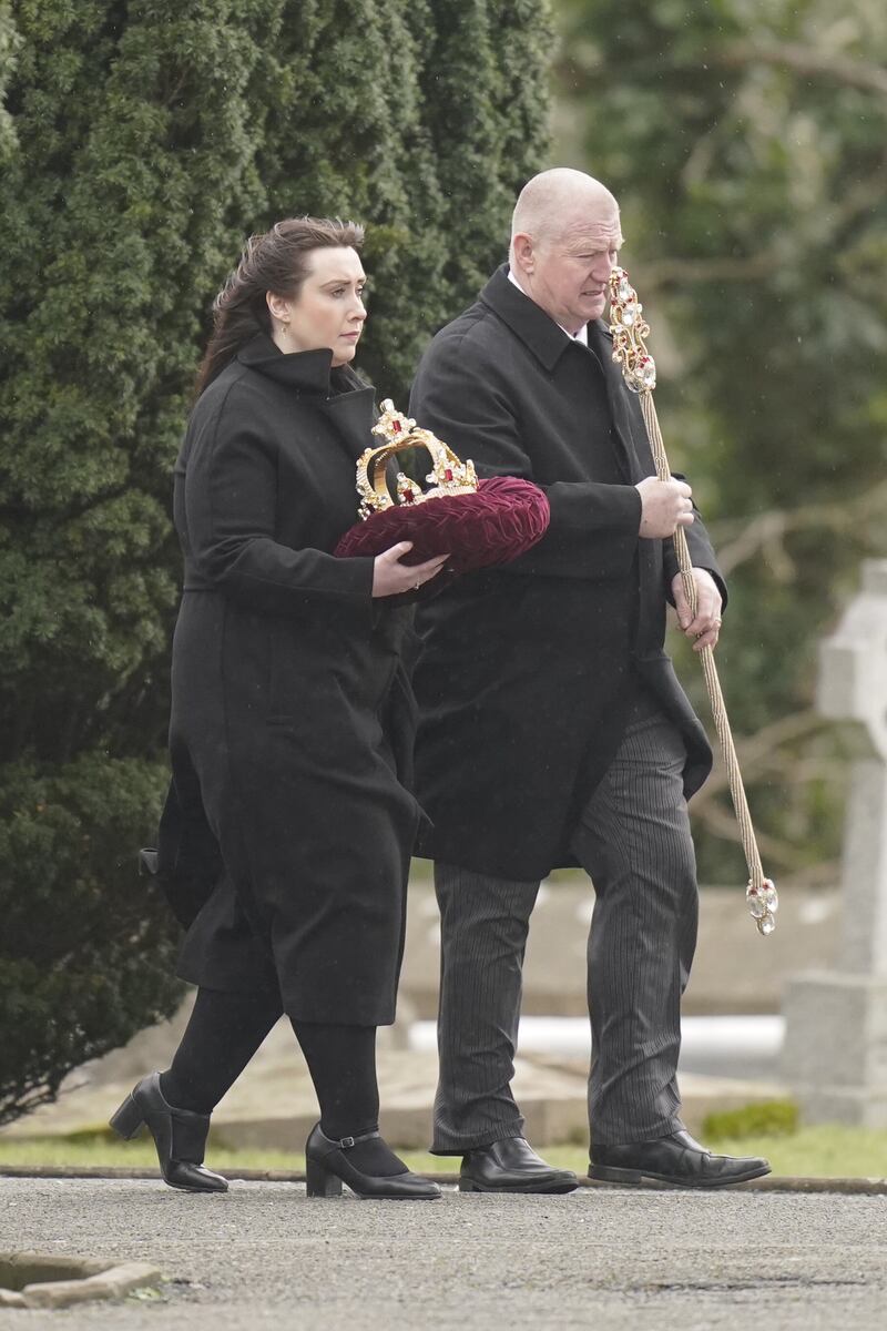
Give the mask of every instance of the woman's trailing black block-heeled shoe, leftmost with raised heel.
[{"label": "woman's trailing black block-heeled shoe, leftmost with raised heel", "polygon": [[164,1182],[185,1193],[227,1193],[227,1179],[203,1169],[209,1114],[173,1109],[160,1089],[160,1073],[142,1077],[110,1119],[110,1126],[129,1141],[142,1127],[154,1138]]}]

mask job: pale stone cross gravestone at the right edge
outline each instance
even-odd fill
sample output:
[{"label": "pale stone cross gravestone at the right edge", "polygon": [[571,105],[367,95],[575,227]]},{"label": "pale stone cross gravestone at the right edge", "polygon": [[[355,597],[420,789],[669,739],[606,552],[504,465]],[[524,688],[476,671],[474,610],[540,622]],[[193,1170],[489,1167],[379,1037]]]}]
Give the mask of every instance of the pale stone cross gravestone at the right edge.
[{"label": "pale stone cross gravestone at the right edge", "polygon": [[852,723],[838,968],[794,977],[783,1073],[806,1122],[887,1126],[887,559],[821,647],[818,707]]}]

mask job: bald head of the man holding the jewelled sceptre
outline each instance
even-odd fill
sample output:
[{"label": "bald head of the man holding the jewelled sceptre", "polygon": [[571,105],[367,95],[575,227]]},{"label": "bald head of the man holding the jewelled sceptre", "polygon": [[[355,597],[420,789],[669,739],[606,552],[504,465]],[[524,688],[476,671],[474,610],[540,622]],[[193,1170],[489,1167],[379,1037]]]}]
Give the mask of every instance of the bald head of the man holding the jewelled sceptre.
[{"label": "bald head of the man holding the jewelled sceptre", "polygon": [[520,192],[509,266],[524,294],[574,335],[604,313],[621,244],[620,209],[609,189],[581,170],[556,166]]}]

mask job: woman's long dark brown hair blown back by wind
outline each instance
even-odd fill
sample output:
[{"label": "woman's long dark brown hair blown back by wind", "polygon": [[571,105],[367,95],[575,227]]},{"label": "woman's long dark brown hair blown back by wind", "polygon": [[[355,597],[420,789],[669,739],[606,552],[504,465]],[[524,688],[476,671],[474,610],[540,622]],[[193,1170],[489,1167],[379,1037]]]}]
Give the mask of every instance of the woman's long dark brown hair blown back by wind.
[{"label": "woman's long dark brown hair blown back by wind", "polygon": [[213,301],[213,335],[199,370],[194,395],[199,397],[257,333],[271,331],[266,293],[293,299],[309,276],[315,249],[363,244],[363,226],[326,217],[287,217],[270,232],[250,236],[241,262]]}]

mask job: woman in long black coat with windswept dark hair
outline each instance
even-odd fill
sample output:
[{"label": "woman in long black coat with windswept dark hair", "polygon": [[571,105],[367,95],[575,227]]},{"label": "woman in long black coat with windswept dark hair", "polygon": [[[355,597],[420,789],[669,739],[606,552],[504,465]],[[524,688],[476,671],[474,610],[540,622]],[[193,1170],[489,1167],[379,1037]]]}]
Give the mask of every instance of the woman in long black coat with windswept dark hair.
[{"label": "woman in long black coat with windswept dark hair", "polygon": [[356,516],[372,390],[350,369],[363,330],[363,232],[290,218],[253,237],[215,331],[176,467],[185,586],[173,644],[173,784],[160,869],[190,921],[198,985],[172,1066],[112,1126],[148,1125],[173,1187],[203,1169],[210,1113],[281,1013],[320,1105],[309,1195],[434,1198],[379,1137],[375,1030],[394,1021],[419,807],[402,783],[412,695],[392,602],[444,558],[407,567],[330,551]]}]

